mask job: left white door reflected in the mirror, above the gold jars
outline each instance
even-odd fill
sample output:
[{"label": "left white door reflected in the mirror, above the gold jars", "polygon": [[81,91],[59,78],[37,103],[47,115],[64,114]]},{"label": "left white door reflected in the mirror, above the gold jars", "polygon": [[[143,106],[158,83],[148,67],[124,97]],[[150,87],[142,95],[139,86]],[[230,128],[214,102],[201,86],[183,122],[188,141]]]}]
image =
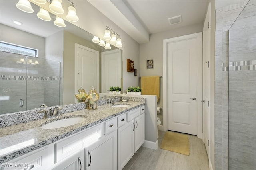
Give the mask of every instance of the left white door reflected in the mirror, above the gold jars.
[{"label": "left white door reflected in the mirror, above the gold jars", "polygon": [[76,44],[76,51],[75,69],[77,71],[75,72],[75,92],[77,92],[80,87],[83,87],[84,90],[88,92],[92,86],[99,92],[99,52],[79,44]]}]

